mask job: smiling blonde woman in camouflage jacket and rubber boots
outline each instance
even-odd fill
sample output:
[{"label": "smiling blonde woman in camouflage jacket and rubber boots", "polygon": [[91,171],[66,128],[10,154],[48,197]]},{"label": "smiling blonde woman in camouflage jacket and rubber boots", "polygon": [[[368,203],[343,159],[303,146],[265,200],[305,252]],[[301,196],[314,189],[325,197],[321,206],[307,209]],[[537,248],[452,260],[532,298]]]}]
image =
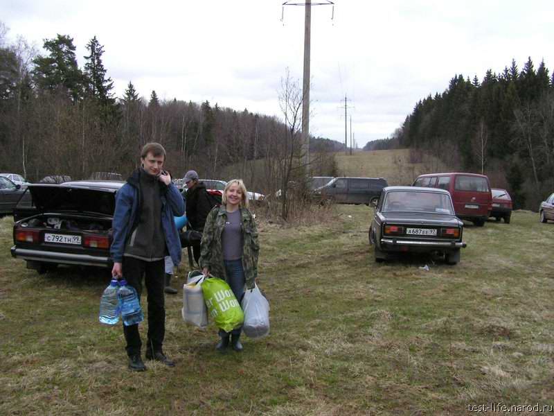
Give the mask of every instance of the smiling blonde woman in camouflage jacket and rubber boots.
[{"label": "smiling blonde woman in camouflage jacket and rubber boots", "polygon": [[[204,275],[211,273],[224,279],[238,302],[244,295],[244,286],[253,288],[258,276],[258,229],[248,209],[247,195],[242,179],[233,179],[226,184],[222,205],[214,207],[206,218],[199,260]],[[241,352],[241,331],[242,328],[230,333],[220,329],[217,350],[225,352],[231,341],[233,349]]]}]

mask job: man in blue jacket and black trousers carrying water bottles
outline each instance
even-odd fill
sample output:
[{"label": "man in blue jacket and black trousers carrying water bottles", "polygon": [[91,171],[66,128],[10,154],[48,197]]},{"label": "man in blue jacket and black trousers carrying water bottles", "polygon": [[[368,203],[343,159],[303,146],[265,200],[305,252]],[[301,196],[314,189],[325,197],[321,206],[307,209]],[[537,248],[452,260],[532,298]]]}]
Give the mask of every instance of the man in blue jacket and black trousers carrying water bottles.
[{"label": "man in blue jacket and black trousers carrying water bottles", "polygon": [[[110,253],[114,260],[111,274],[123,277],[133,286],[139,298],[142,277],[148,293],[148,344],[146,358],[161,361],[169,367],[175,363],[163,354],[166,332],[165,261],[169,255],[175,266],[181,261],[181,242],[174,216],[184,214],[181,193],[163,171],[166,150],[158,143],[145,144],[141,167],[136,169],[116,196],[114,238]],[[129,369],[144,371],[141,358],[139,324],[123,326]]]}]

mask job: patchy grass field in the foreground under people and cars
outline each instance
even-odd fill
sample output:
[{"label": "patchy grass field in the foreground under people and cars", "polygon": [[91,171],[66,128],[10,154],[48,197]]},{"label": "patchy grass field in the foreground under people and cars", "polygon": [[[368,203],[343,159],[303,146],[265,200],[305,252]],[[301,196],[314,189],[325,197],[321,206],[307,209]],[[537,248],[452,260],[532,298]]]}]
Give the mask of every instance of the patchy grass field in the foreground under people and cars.
[{"label": "patchy grass field in the foreground under people and cars", "polygon": [[10,257],[12,219],[1,219],[0,414],[462,415],[491,402],[554,405],[554,224],[516,211],[510,225],[468,225],[457,266],[428,257],[377,265],[372,210],[334,209],[329,225],[260,224],[267,338],[218,354],[213,324],[186,325],[181,295],[168,295],[165,349],[177,367],[147,362],[138,374],[127,370],[121,327],[98,323],[105,275],[26,270]]}]

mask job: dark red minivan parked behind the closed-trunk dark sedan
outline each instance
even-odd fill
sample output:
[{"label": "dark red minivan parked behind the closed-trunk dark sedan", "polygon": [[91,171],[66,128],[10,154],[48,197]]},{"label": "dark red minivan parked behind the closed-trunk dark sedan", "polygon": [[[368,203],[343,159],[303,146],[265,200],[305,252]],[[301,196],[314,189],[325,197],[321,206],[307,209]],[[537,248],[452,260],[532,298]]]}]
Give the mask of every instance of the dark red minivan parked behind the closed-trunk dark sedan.
[{"label": "dark red minivan parked behind the closed-trunk dark sedan", "polygon": [[483,227],[492,210],[489,178],[477,173],[429,173],[420,175],[414,187],[446,189],[452,196],[454,211],[461,220]]}]

